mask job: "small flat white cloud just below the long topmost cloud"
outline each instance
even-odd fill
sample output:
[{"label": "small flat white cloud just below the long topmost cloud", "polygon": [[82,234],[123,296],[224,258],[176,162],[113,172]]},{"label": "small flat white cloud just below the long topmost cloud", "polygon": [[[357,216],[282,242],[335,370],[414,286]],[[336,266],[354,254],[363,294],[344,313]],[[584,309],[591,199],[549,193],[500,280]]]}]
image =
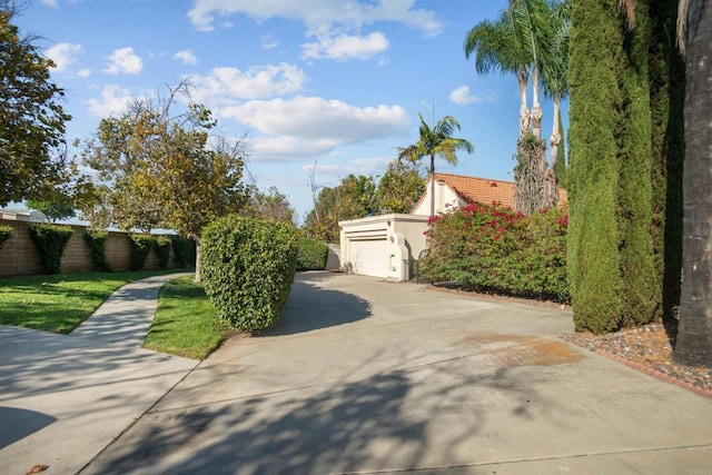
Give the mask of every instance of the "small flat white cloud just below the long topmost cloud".
[{"label": "small flat white cloud just below the long topmost cloud", "polygon": [[368,59],[386,49],[388,49],[388,40],[379,31],[366,37],[349,34],[339,34],[337,37],[318,36],[316,42],[301,44],[304,57],[310,59]]}]

